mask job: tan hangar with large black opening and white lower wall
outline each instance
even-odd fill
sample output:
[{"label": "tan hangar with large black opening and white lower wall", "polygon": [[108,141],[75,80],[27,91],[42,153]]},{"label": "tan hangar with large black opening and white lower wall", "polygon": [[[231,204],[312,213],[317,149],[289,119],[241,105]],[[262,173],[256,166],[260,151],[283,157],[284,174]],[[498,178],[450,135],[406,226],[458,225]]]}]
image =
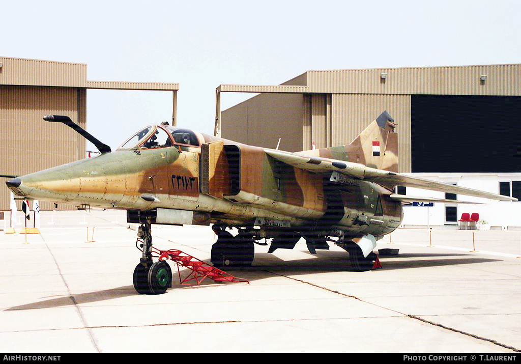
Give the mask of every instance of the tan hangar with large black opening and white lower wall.
[{"label": "tan hangar with large black opening and white lower wall", "polygon": [[[259,94],[221,112],[222,92]],[[280,138],[287,151],[349,144],[386,110],[401,173],[521,200],[521,64],[307,71],[278,86],[221,84],[216,99],[222,137],[273,149]],[[436,205],[406,207],[404,225],[456,225],[478,212],[492,228],[521,228],[521,202]]]}]

